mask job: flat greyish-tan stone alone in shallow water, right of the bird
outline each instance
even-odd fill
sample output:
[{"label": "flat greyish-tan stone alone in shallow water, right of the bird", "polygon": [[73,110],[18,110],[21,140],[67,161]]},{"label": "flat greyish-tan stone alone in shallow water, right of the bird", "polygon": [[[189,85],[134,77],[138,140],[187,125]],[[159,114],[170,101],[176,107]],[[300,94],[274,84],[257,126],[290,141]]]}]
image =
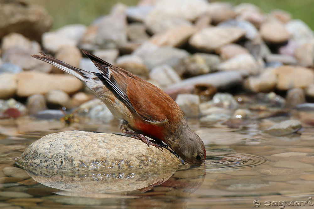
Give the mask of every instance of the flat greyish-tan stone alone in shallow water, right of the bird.
[{"label": "flat greyish-tan stone alone in shallow water, right of the bird", "polygon": [[284,136],[291,133],[295,133],[302,128],[301,122],[297,120],[286,120],[272,127],[264,130],[264,133],[268,133],[273,136]]}]

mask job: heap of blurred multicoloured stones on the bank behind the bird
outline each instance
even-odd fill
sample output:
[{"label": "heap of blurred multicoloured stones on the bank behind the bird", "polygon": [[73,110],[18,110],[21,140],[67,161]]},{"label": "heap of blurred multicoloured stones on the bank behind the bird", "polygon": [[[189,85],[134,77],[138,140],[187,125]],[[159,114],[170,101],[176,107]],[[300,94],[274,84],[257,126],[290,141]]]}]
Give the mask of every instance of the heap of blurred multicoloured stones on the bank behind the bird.
[{"label": "heap of blurred multicoloured stones on the bank behind the bird", "polygon": [[[88,27],[74,24],[50,31],[51,18],[41,7],[8,1],[2,8],[24,16],[8,16],[0,26],[7,31],[0,34],[1,117],[15,116],[10,108],[23,115],[81,105],[89,117],[110,121],[111,113],[82,82],[30,56],[44,51],[97,71],[79,48],[159,86],[191,118],[212,120],[206,118],[213,111],[208,107],[241,102],[227,93],[215,95],[217,91],[275,91],[290,107],[314,99],[314,33],[282,10],[266,14],[249,3],[141,0],[132,7],[117,3]],[[32,33],[16,29],[25,22]],[[285,100],[274,93],[269,97]]]}]

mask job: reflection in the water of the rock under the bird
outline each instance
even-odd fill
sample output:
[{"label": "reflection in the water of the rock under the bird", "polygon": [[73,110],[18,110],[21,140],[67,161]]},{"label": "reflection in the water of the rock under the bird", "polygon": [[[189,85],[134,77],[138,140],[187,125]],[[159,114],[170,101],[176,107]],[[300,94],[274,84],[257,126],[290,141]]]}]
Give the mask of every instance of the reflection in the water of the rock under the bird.
[{"label": "reflection in the water of the rock under the bird", "polygon": [[158,171],[109,171],[109,172],[62,172],[54,170],[30,170],[24,168],[37,182],[60,190],[101,193],[125,192],[165,182],[175,170]]}]

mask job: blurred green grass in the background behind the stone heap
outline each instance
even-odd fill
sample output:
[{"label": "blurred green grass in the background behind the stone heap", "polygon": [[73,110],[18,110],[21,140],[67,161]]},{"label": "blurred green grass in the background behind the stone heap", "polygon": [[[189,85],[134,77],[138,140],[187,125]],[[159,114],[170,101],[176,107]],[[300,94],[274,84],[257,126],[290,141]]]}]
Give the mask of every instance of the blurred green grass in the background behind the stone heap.
[{"label": "blurred green grass in the background behind the stone heap", "polygon": [[[111,7],[118,3],[136,5],[139,0],[28,0],[44,6],[54,19],[53,29],[67,24],[90,25],[96,18],[108,14]],[[218,0],[219,1],[219,0]],[[220,0],[222,1],[222,0]],[[314,29],[314,0],[227,0],[234,4],[253,3],[265,13],[282,9],[301,19]]]}]

